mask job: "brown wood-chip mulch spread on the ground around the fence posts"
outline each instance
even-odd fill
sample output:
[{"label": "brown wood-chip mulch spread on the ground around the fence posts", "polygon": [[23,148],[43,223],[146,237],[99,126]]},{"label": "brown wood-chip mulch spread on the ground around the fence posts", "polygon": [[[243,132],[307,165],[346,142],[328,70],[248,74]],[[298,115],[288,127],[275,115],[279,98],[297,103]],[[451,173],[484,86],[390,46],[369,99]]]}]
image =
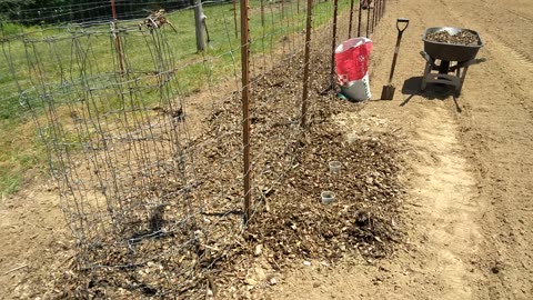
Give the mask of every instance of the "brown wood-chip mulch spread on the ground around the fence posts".
[{"label": "brown wood-chip mulch spread on the ground around the fence posts", "polygon": [[[143,238],[129,237],[128,246],[115,247],[102,240],[84,249],[78,263],[54,280],[61,297],[204,299],[218,290],[223,299],[250,283],[243,266],[258,257],[281,270],[302,260],[393,254],[402,240],[398,140],[375,134],[346,141],[332,117],[356,112],[360,106],[322,92],[329,56],[312,57],[305,131],[299,127],[303,53],[254,79],[254,214],[248,230],[241,230],[242,157],[235,157],[242,151],[241,107],[235,93],[207,116],[209,130],[184,149],[194,150],[200,179],[194,188],[160,211],[158,220],[152,216]],[[220,142],[207,142],[222,136]],[[339,173],[329,171],[331,160],[341,161]],[[335,192],[334,203],[321,203],[324,190]],[[199,203],[203,207],[194,208]],[[184,209],[202,213],[178,218]],[[87,261],[98,267],[82,266]]]}]

